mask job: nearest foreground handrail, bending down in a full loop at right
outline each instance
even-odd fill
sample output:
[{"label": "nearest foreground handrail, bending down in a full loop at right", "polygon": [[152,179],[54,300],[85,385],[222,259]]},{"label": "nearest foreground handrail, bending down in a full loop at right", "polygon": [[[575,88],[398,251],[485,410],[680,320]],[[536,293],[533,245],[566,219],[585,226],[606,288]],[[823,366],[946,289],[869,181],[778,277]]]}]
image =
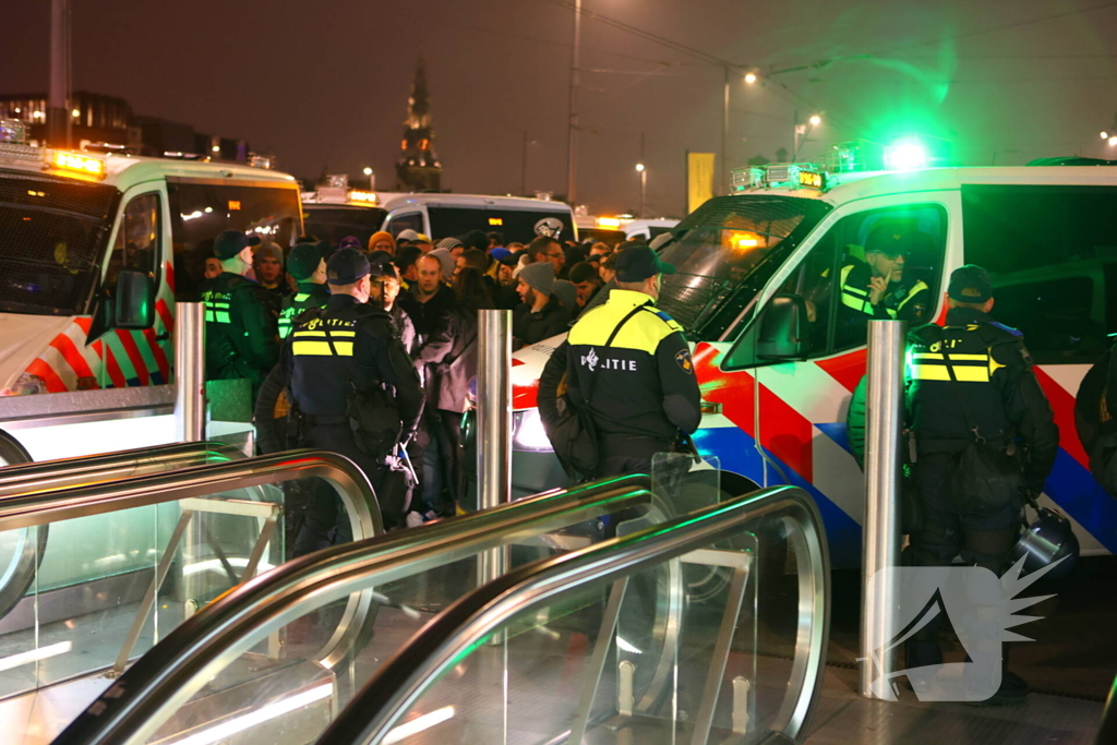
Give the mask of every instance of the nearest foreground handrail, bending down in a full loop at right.
[{"label": "nearest foreground handrail, bending down in a full loop at right", "polygon": [[728,538],[762,518],[782,519],[799,563],[799,630],[789,690],[772,729],[798,742],[819,694],[830,612],[829,555],[818,507],[795,487],[775,487],[543,560],[460,599],[382,665],[326,728],[324,745],[379,743],[439,677],[509,618],[555,598],[607,584]]}]

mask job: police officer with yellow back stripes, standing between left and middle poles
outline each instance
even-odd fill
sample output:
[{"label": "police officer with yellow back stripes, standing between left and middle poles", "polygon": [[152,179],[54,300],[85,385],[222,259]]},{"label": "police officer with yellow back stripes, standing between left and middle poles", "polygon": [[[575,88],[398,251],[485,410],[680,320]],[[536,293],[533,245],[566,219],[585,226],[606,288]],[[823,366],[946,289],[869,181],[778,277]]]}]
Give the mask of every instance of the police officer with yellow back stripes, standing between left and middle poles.
[{"label": "police officer with yellow back stripes, standing between left and middle poles", "polygon": [[[355,462],[376,490],[390,528],[402,524],[407,508],[407,495],[397,488],[404,468],[398,448],[414,431],[423,394],[391,316],[369,304],[369,259],[356,249],[330,257],[330,300],[295,319],[281,364],[303,419],[302,443]],[[328,545],[336,518],[336,496],[318,494],[306,510],[295,554]]]}]

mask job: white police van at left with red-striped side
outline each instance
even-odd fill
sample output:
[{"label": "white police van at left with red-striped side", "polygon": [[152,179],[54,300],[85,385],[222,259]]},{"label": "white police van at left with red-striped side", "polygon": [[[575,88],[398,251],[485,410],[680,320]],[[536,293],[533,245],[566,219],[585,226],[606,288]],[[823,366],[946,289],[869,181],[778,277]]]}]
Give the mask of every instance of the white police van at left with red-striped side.
[{"label": "white police van at left with red-striped side", "polygon": [[[197,299],[226,229],[290,245],[303,230],[296,181],[49,150],[0,123],[0,429],[36,459],[173,441],[175,298]],[[112,432],[35,433],[78,420]]]}]

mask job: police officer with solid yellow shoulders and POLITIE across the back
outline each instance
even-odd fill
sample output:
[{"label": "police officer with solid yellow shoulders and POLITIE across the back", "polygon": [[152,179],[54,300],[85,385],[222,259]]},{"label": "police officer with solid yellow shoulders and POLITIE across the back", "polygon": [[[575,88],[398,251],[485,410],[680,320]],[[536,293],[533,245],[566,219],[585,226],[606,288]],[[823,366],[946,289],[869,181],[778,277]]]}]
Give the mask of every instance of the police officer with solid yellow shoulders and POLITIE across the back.
[{"label": "police officer with solid yellow shoulders and POLITIE across the back", "polygon": [[567,394],[589,410],[600,447],[594,476],[650,472],[657,452],[679,449],[701,419],[698,381],[682,327],[656,309],[675,267],[647,246],[617,260],[617,288],[567,337]]}]

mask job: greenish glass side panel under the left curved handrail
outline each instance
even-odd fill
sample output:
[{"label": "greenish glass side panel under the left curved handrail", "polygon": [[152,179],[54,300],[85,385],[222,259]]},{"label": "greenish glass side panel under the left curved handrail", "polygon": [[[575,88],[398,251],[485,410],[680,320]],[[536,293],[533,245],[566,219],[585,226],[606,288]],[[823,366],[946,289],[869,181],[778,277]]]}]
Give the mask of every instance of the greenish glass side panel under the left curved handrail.
[{"label": "greenish glass side panel under the left curved handrail", "polygon": [[[0,720],[35,710],[45,742],[57,735],[114,667],[279,564],[285,490],[311,483],[334,488],[303,479],[0,533]],[[277,653],[276,639],[260,649]]]}]

